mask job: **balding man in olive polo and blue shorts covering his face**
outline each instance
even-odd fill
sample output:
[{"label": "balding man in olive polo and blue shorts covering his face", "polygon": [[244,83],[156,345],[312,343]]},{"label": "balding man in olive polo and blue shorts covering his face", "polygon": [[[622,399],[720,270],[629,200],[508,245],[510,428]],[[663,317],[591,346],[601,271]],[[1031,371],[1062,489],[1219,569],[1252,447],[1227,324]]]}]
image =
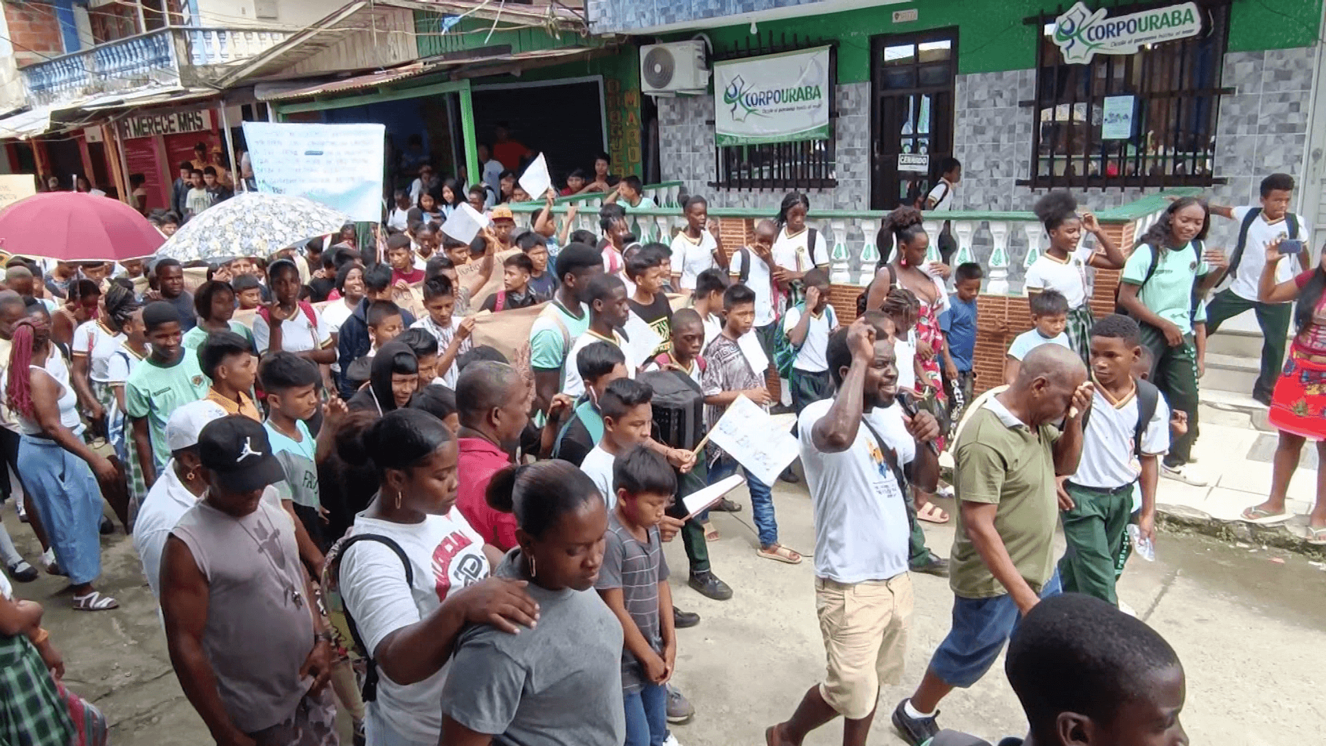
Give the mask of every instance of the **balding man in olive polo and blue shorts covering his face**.
[{"label": "balding man in olive polo and blue shorts covering his face", "polygon": [[[957,437],[957,532],[948,560],[953,625],[916,693],[894,710],[894,726],[908,743],[939,733],[940,700],[955,686],[976,684],[1021,615],[1061,592],[1054,477],[1077,471],[1091,390],[1077,353],[1041,345],[1022,360],[1008,390],[971,413]],[[1053,425],[1059,421],[1062,431]]]}]

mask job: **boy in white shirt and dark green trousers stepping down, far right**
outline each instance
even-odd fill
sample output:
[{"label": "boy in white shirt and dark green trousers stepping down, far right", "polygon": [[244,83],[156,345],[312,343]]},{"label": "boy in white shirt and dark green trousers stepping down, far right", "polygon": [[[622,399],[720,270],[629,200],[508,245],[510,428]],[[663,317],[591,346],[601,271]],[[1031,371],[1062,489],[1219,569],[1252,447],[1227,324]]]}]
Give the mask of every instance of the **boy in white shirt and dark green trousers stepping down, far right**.
[{"label": "boy in white shirt and dark green trousers stepping down, far right", "polygon": [[[1207,335],[1215,335],[1227,320],[1238,316],[1249,308],[1257,313],[1261,327],[1261,373],[1252,389],[1252,397],[1270,406],[1270,394],[1280,380],[1280,366],[1285,362],[1285,340],[1289,338],[1289,321],[1294,312],[1293,303],[1262,303],[1257,300],[1257,283],[1266,265],[1266,247],[1282,239],[1310,239],[1311,227],[1306,220],[1289,211],[1294,198],[1294,178],[1289,174],[1272,174],[1261,181],[1261,207],[1221,207],[1211,204],[1213,215],[1221,215],[1238,222],[1238,240],[1229,256],[1229,287],[1216,293],[1207,307]],[[1298,259],[1282,256],[1276,265],[1276,283],[1290,280],[1302,269],[1309,268],[1307,251],[1298,252]],[[1281,250],[1284,254],[1284,250]]]}]

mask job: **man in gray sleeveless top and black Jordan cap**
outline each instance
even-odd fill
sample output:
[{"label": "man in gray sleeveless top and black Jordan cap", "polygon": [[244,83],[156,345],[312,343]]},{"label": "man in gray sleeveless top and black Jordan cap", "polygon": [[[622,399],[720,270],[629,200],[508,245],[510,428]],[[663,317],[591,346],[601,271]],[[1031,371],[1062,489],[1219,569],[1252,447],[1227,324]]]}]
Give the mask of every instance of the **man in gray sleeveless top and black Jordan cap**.
[{"label": "man in gray sleeveless top and black Jordan cap", "polygon": [[263,425],[244,415],[198,437],[207,494],[166,540],[162,612],[171,664],[217,743],[335,746],[328,632]]}]

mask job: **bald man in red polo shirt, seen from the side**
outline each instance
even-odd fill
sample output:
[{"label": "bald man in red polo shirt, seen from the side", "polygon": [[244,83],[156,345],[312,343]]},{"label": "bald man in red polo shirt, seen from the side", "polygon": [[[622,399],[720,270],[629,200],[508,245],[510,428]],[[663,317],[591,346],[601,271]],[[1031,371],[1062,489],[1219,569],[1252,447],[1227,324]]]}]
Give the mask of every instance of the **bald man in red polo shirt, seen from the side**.
[{"label": "bald man in red polo shirt, seen from the side", "polygon": [[525,380],[505,362],[471,362],[456,380],[456,507],[487,543],[504,552],[516,546],[516,516],[488,507],[484,492],[493,474],[512,463],[532,397]]}]

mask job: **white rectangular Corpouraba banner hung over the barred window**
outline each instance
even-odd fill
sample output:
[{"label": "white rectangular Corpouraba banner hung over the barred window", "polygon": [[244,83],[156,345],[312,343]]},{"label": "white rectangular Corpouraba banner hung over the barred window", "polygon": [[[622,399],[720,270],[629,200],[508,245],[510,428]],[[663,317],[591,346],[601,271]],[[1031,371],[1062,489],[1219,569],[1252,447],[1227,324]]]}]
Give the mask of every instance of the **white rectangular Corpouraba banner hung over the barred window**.
[{"label": "white rectangular Corpouraba banner hung over the barred window", "polygon": [[829,48],[713,64],[719,145],[829,139]]}]

